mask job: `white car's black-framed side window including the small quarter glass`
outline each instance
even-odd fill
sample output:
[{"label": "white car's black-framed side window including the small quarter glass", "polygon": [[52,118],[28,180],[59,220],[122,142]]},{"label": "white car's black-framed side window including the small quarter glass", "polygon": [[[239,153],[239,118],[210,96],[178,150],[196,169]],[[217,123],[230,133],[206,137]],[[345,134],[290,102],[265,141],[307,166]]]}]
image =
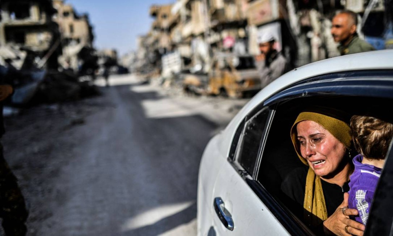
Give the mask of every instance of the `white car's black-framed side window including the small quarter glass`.
[{"label": "white car's black-framed side window including the small quarter glass", "polygon": [[[310,78],[272,95],[246,116],[234,136],[229,160],[235,168],[245,171],[239,173],[248,174],[244,177],[248,185],[290,234],[313,235],[299,217],[303,205],[295,206],[281,189],[283,180],[293,170],[305,167],[290,139],[296,117],[307,106],[319,105],[393,123],[389,112],[392,102],[392,71],[355,71]],[[390,161],[393,166],[393,160]],[[375,199],[381,199],[378,188],[376,191]],[[371,231],[366,226],[366,234],[367,230]]]}]

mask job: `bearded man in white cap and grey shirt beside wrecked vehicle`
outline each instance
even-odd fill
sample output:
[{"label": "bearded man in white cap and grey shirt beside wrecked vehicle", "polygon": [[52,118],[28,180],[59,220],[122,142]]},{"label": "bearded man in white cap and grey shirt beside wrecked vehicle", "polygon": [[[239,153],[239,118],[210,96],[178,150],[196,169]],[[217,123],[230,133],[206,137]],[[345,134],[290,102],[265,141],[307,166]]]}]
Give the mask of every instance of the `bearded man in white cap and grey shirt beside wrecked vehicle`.
[{"label": "bearded man in white cap and grey shirt beside wrecked vehicle", "polygon": [[261,54],[257,55],[255,60],[260,71],[261,88],[291,69],[282,53],[274,49],[275,41],[275,37],[268,32],[259,35],[257,38]]}]

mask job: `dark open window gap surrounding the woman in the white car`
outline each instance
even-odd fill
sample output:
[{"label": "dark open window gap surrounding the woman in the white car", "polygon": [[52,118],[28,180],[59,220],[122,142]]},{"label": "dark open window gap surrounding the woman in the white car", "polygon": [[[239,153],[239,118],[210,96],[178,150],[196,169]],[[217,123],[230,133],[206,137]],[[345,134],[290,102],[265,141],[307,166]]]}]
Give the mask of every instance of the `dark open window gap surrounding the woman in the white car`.
[{"label": "dark open window gap surrounding the woman in the white car", "polygon": [[[384,102],[385,101],[385,102]],[[340,98],[310,97],[307,99],[294,99],[285,104],[275,106],[274,118],[272,119],[266,144],[261,150],[261,163],[258,168],[257,181],[269,192],[269,194],[294,216],[302,220],[303,203],[298,203],[296,199],[289,198],[282,190],[285,179],[298,178],[299,173],[306,171],[305,165],[299,161],[292,141],[290,139],[290,129],[296,120],[300,110],[305,104],[323,104],[331,108],[345,110],[349,114],[367,114],[371,116],[387,117],[383,104],[390,104],[387,99],[370,99],[367,97],[344,96]],[[351,107],[345,104],[352,104]],[[379,105],[378,105],[379,104]],[[385,112],[384,112],[385,111]],[[391,122],[391,121],[390,121]],[[354,157],[357,152],[352,150]],[[303,189],[300,192],[304,191]],[[295,194],[296,195],[296,194]],[[326,197],[326,196],[325,196]],[[337,203],[337,206],[341,203]],[[334,207],[334,209],[336,208]]]}]

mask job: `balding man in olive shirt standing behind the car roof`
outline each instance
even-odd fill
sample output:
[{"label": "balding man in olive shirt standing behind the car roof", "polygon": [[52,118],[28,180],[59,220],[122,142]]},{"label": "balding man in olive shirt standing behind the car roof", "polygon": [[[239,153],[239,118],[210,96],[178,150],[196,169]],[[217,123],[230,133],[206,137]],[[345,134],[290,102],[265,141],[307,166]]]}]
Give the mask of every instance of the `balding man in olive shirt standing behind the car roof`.
[{"label": "balding man in olive shirt standing behind the car roof", "polygon": [[353,11],[341,11],[334,16],[331,33],[334,42],[340,43],[338,51],[341,55],[375,50],[371,44],[359,38],[357,25],[358,17]]}]

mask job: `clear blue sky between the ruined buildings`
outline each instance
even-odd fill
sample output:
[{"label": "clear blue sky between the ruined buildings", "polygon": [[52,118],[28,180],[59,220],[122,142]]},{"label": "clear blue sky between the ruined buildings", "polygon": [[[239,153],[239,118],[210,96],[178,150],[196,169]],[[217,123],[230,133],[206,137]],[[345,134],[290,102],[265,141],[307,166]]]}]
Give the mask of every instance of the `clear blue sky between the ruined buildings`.
[{"label": "clear blue sky between the ruined buildings", "polygon": [[114,48],[121,56],[136,49],[136,38],[149,32],[153,4],[171,4],[176,0],[64,0],[78,13],[88,13],[97,49]]}]

